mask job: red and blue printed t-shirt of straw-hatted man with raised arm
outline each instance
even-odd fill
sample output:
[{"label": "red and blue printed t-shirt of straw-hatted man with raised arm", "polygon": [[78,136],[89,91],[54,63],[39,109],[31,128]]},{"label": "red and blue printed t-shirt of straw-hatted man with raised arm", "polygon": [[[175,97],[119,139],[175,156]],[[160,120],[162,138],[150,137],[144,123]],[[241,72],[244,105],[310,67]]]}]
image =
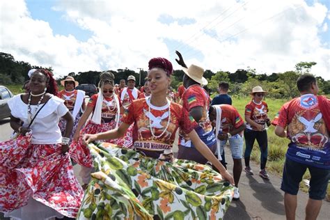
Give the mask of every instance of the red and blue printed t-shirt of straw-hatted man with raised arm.
[{"label": "red and blue printed t-shirt of straw-hatted man with raised arm", "polygon": [[[202,118],[195,128],[199,138],[207,145],[213,146],[217,139],[214,136],[212,123],[209,118],[210,97],[200,85],[189,86],[183,93],[180,104],[186,111],[190,111],[194,107],[203,107]],[[186,133],[180,131],[180,145],[187,148],[194,148],[194,144]]]}]

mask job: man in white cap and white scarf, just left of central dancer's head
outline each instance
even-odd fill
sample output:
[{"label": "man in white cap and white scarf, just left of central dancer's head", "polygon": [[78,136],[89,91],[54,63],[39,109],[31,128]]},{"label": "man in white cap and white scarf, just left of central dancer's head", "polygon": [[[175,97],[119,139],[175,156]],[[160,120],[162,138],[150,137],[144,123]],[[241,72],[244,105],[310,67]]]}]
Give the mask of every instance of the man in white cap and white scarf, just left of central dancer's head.
[{"label": "man in white cap and white scarf, just left of central dancer's head", "polygon": [[127,87],[120,91],[120,100],[123,103],[123,107],[128,108],[129,104],[139,97],[139,94],[140,91],[135,88],[135,77],[130,75],[127,77]]}]

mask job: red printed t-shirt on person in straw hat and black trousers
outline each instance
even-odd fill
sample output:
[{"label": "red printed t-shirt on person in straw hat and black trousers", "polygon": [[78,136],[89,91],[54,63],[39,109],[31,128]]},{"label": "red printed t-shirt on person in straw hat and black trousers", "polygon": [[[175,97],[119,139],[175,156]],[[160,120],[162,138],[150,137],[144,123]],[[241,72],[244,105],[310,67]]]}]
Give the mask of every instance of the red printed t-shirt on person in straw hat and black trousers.
[{"label": "red printed t-shirt on person in straw hat and black trousers", "polygon": [[[246,104],[245,107],[245,115],[249,115],[251,120],[253,120],[255,123],[258,123],[260,125],[265,125],[267,121],[267,112],[269,111],[267,103],[262,101],[260,104],[256,104],[256,102],[249,102],[249,104]],[[250,125],[246,122],[246,128],[247,129],[253,129],[258,130],[255,126]]]}]

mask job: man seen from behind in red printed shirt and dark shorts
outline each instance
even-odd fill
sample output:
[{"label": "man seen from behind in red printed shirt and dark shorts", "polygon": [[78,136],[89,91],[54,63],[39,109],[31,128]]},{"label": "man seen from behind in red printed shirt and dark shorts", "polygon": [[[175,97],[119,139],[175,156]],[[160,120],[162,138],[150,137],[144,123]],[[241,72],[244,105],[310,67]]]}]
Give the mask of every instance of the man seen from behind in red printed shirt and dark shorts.
[{"label": "man seen from behind in red printed shirt and dark shorts", "polygon": [[299,182],[308,168],[311,181],[306,219],[317,219],[330,179],[330,100],[317,95],[319,88],[311,74],[301,75],[297,87],[301,96],[285,103],[273,121],[275,134],[291,141],[281,189],[285,191],[286,218],[294,219]]}]

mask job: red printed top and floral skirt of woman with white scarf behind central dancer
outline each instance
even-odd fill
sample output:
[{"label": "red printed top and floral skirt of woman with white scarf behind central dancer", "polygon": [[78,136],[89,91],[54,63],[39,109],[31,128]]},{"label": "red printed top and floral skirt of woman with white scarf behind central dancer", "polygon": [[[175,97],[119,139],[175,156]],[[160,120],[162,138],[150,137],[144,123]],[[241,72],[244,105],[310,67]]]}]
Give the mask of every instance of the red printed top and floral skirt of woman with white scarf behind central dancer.
[{"label": "red printed top and floral skirt of woman with white scarf behind central dancer", "polygon": [[[92,107],[94,109],[93,111],[95,111],[97,97],[98,94],[93,95],[87,104],[88,107]],[[122,106],[120,100],[119,105],[120,107]],[[93,166],[89,149],[87,146],[84,145],[84,143],[82,143],[82,136],[84,134],[97,134],[101,132],[107,132],[111,129],[115,129],[117,111],[120,111],[120,109],[116,107],[115,100],[113,99],[113,97],[103,97],[101,124],[97,125],[93,123],[92,120],[89,120],[85,127],[81,129],[79,141],[72,141],[70,145],[70,157],[74,159],[75,162],[77,162],[81,166]],[[132,132],[125,134],[125,136],[123,136],[123,138],[121,139],[104,140],[104,142],[114,143],[123,148],[129,148],[130,146],[132,146]]]}]

